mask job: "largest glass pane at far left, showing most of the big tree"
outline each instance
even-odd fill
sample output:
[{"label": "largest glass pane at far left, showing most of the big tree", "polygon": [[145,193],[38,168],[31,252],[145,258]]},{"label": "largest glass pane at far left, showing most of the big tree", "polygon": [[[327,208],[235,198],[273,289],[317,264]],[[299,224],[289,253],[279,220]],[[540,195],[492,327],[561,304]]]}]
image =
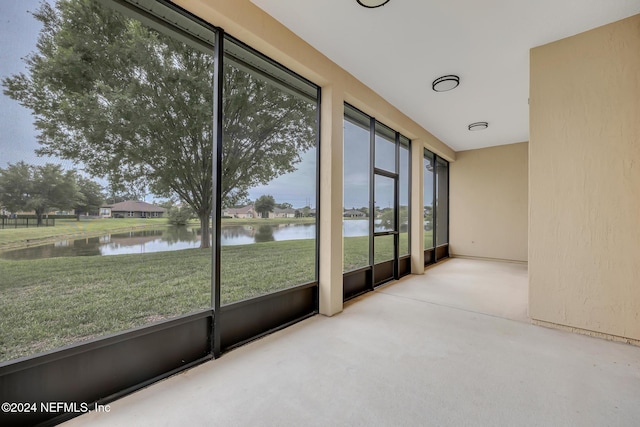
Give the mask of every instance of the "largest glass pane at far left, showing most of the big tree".
[{"label": "largest glass pane at far left, showing most of the big tree", "polygon": [[0,360],[210,307],[213,47],[106,4],[5,15]]}]

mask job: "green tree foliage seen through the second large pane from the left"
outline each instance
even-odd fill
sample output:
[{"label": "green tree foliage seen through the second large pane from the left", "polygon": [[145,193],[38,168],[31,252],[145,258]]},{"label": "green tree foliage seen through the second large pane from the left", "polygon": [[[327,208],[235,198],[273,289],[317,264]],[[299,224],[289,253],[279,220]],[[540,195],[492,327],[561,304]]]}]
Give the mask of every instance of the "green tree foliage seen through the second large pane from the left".
[{"label": "green tree foliage seen through the second large pane from the left", "polygon": [[222,198],[231,206],[249,188],[296,170],[316,143],[316,104],[226,64]]}]

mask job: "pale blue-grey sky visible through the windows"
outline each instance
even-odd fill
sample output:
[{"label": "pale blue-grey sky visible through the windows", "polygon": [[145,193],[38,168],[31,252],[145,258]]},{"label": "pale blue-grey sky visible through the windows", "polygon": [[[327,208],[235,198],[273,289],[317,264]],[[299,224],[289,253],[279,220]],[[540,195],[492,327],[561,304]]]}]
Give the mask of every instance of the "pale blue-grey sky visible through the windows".
[{"label": "pale blue-grey sky visible through the windows", "polygon": [[[35,50],[41,25],[29,11],[37,9],[40,0],[0,0],[0,78],[26,71],[22,58]],[[369,206],[369,152],[368,132],[345,124],[345,141],[358,141],[345,144],[344,152],[344,206],[360,208]],[[364,145],[363,145],[364,144]],[[25,161],[29,164],[43,165],[51,162],[61,164],[65,169],[74,169],[73,162],[54,157],[38,157],[34,150],[39,146],[36,130],[30,110],[17,101],[0,94],[0,168],[8,164]],[[388,160],[388,159],[382,159]],[[94,178],[102,185],[106,181]],[[380,207],[392,206],[392,190],[382,184],[376,190],[376,204]],[[316,150],[302,155],[297,171],[280,176],[267,185],[254,187],[249,191],[252,200],[270,194],[276,203],[288,202],[294,207],[316,206]],[[401,204],[407,203],[401,194]],[[156,199],[153,194],[145,200]]]}]

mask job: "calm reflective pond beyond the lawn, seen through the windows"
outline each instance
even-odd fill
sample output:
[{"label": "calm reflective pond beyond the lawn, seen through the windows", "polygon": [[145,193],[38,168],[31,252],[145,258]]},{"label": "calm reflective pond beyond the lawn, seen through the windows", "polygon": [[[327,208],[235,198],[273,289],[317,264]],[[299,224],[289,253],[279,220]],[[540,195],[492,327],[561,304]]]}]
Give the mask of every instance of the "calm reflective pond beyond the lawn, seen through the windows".
[{"label": "calm reflective pond beyond the lawn, seen through the windows", "polygon": [[[368,229],[369,222],[366,219],[349,220],[343,223],[345,237],[366,236]],[[223,225],[221,244],[222,246],[250,245],[259,242],[313,239],[315,235],[315,224]],[[158,230],[61,240],[48,245],[0,252],[0,258],[17,261],[69,256],[109,256],[179,251],[198,247],[200,247],[199,228],[173,226]]]}]

